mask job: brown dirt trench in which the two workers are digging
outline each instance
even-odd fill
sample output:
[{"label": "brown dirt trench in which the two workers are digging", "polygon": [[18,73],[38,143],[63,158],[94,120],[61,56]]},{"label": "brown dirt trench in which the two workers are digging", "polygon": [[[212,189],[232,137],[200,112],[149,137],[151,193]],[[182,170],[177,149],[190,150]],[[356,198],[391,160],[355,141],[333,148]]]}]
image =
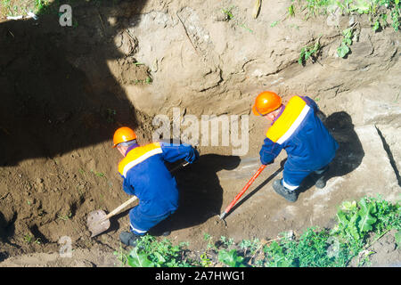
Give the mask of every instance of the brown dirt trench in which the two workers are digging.
[{"label": "brown dirt trench in which the two workers are digging", "polygon": [[[58,8],[53,5],[50,11]],[[222,8],[232,5],[234,18],[227,19]],[[194,250],[205,247],[204,233],[269,240],[280,232],[330,227],[347,199],[381,194],[395,201],[399,32],[375,33],[356,16],[358,40],[341,59],[335,51],[348,17],[340,18],[340,28],[301,15],[271,27],[287,6],[265,1],[253,19],[240,1],[118,1],[76,4],[74,27],[61,27],[52,13],[0,22],[0,265],[115,265],[112,253],[120,247],[119,232],[128,229],[127,210],[94,239],[86,228],[89,212],[110,212],[129,199],[111,136],[119,126],[133,126],[140,143],[151,142],[152,119],[172,118],[173,108],[181,110],[183,129],[187,114],[249,115],[249,148],[236,155],[230,146],[199,145],[199,161],[176,173],[180,207],[151,231],[155,236],[168,229],[170,240],[189,241]],[[299,65],[301,47],[318,37],[318,62]],[[282,175],[283,151],[225,225],[217,215],[259,166],[268,126],[250,106],[266,89],[285,100],[293,94],[315,99],[340,150],[327,186],[317,190],[306,180],[293,204],[271,187]],[[70,239],[71,258],[59,255],[62,237]],[[388,251],[377,265],[400,261],[399,249]]]}]

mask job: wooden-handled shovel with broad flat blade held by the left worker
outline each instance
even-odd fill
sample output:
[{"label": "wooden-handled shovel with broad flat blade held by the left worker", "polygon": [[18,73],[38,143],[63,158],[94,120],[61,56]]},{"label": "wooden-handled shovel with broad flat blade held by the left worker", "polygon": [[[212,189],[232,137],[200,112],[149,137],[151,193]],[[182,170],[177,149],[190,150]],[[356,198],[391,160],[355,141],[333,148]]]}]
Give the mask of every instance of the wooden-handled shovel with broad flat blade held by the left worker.
[{"label": "wooden-handled shovel with broad flat blade held by the left worker", "polygon": [[[182,162],[178,166],[174,167],[170,170],[171,173],[174,173],[181,167],[185,167],[189,164],[189,162]],[[94,210],[87,215],[86,224],[90,232],[92,232],[91,238],[94,238],[96,235],[107,231],[110,228],[110,217],[119,213],[120,210],[126,208],[129,204],[135,202],[138,198],[136,196],[128,199],[126,202],[121,204],[118,208],[112,210],[108,215],[103,210]]]}]

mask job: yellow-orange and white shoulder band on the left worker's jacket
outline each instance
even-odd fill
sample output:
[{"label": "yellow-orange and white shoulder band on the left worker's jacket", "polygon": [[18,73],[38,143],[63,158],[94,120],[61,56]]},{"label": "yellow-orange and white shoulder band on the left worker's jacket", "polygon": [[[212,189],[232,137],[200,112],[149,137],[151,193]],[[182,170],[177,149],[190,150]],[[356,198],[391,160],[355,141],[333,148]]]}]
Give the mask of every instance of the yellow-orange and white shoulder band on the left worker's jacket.
[{"label": "yellow-orange and white shoulder band on the left worker's jacket", "polygon": [[127,156],[119,163],[119,174],[126,177],[129,169],[143,162],[143,160],[162,152],[159,142],[136,147],[134,150],[129,151]]}]

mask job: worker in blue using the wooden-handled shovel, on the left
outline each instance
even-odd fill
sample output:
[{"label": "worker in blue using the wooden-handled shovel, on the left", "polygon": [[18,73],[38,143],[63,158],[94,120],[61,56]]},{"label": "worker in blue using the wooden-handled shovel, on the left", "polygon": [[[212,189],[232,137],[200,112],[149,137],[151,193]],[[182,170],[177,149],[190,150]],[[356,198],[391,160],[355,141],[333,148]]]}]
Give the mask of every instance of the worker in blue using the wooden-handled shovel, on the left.
[{"label": "worker in blue using the wooden-handled shovel, on the left", "polygon": [[199,153],[189,144],[153,142],[139,145],[134,130],[120,127],[113,137],[113,148],[124,157],[119,162],[119,174],[123,177],[123,190],[135,195],[139,204],[129,211],[130,232],[121,232],[119,239],[128,246],[153,226],[173,214],[178,207],[178,190],[165,161],[185,159],[193,163]]}]

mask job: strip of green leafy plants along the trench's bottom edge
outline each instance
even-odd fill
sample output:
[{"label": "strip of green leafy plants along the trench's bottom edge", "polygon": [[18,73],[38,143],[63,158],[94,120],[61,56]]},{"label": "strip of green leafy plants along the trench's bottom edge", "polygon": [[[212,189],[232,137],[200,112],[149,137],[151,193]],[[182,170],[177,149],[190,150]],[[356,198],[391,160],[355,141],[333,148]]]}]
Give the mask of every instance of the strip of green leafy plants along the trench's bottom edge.
[{"label": "strip of green leafy plants along the trench's bottom edge", "polygon": [[[344,201],[332,229],[308,228],[299,237],[292,231],[282,232],[274,240],[241,240],[220,237],[216,243],[208,233],[207,249],[194,253],[186,245],[173,246],[169,240],[157,241],[145,235],[129,254],[115,253],[131,266],[202,266],[231,267],[345,267],[353,258],[357,265],[369,265],[374,242],[390,230],[396,230],[397,247],[401,245],[401,208],[381,197]],[[188,256],[195,256],[194,259]]]}]

